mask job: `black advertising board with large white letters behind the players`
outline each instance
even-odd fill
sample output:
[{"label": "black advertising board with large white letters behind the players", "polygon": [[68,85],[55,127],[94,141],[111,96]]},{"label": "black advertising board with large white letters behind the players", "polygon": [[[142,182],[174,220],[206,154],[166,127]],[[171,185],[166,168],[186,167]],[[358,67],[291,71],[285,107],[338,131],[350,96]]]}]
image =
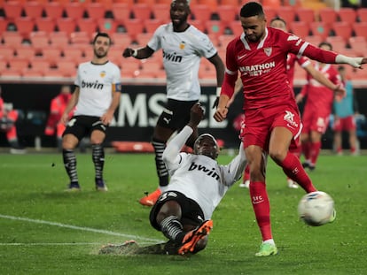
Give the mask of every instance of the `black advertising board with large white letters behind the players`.
[{"label": "black advertising board with large white letters behind the players", "polygon": [[[44,136],[44,124],[49,114],[51,99],[59,94],[61,84],[1,84],[5,103],[12,103],[20,111],[17,124],[20,141],[27,147],[34,146],[35,136],[42,138],[43,146],[55,146],[53,138]],[[296,89],[298,93],[300,88]],[[215,100],[215,88],[203,87],[200,102],[206,108],[206,119],[200,124],[200,132],[214,134],[225,142],[227,148],[237,148],[238,133],[232,126],[241,113],[242,97],[238,95],[230,107],[228,120],[218,124],[213,119],[211,106]],[[127,85],[123,87],[121,106],[115,113],[113,126],[108,129],[106,143],[111,141],[150,141],[152,129],[165,102],[165,87],[154,85]],[[367,116],[367,89],[356,88],[359,111]],[[302,110],[303,106],[300,106]],[[367,148],[367,138],[360,138],[361,147]],[[7,146],[4,133],[0,133],[0,146]],[[347,146],[347,145],[346,145]],[[332,148],[332,131],[323,139],[323,148]]]}]

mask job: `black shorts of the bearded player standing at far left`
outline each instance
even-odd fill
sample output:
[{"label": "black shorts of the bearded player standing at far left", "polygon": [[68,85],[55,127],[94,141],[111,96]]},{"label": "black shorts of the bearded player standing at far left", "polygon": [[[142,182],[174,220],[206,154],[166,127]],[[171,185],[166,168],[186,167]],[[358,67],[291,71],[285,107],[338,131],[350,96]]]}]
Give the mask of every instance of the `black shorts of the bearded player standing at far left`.
[{"label": "black shorts of the bearded player standing at far left", "polygon": [[95,130],[105,133],[107,127],[99,117],[74,116],[67,123],[63,136],[73,134],[81,141],[84,136],[90,135]]}]

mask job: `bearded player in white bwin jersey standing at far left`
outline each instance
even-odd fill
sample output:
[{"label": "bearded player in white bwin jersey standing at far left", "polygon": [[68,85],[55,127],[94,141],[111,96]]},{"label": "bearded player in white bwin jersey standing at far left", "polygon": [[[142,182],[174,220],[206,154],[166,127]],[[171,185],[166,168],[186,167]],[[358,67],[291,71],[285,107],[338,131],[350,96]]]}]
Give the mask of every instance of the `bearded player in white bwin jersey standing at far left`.
[{"label": "bearded player in white bwin jersey standing at far left", "polygon": [[[98,191],[107,191],[103,180],[105,164],[105,131],[113,119],[113,113],[120,103],[120,68],[108,61],[111,46],[108,34],[98,33],[93,41],[93,58],[79,65],[74,94],[66,106],[61,121],[66,124],[62,139],[62,156],[69,176],[69,191],[79,191],[74,149],[85,135],[90,135],[92,157],[95,166],[95,184]],[[74,117],[68,120],[70,111]]]}]

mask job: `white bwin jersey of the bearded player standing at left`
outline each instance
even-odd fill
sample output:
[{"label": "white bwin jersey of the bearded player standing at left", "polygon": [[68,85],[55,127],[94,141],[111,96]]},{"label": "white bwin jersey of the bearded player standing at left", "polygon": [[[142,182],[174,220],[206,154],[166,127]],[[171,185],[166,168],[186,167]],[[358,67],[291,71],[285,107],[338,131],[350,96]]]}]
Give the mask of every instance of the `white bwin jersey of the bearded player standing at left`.
[{"label": "white bwin jersey of the bearded player standing at left", "polygon": [[101,117],[110,107],[116,87],[121,86],[120,69],[109,61],[103,65],[85,62],[79,65],[74,84],[80,88],[74,115]]}]

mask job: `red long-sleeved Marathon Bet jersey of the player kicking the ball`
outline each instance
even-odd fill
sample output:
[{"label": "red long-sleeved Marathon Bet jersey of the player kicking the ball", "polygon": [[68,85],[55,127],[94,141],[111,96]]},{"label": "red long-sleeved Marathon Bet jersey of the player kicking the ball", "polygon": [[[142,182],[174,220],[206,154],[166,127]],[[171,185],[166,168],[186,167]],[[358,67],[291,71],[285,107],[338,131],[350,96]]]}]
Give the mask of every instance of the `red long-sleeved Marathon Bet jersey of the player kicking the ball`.
[{"label": "red long-sleeved Marathon Bet jersey of the player kicking the ball", "polygon": [[222,94],[233,95],[239,71],[244,87],[245,115],[247,110],[279,105],[291,105],[298,110],[286,72],[288,53],[323,63],[335,63],[337,56],[272,27],[265,29],[265,37],[260,42],[247,42],[242,33],[227,46]]}]

